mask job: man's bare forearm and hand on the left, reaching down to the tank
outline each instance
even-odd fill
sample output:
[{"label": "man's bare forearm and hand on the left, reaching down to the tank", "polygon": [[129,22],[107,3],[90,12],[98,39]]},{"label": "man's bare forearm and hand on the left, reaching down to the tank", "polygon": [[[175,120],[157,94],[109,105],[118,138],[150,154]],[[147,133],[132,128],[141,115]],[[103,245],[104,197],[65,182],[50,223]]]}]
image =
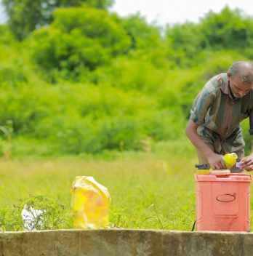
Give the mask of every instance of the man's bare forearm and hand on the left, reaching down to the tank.
[{"label": "man's bare forearm and hand on the left, reaching down to the tank", "polygon": [[212,168],[216,169],[226,169],[222,156],[217,153],[214,153],[211,148],[209,148],[206,143],[201,139],[197,132],[198,125],[190,119],[186,129],[185,134],[190,139],[191,143],[196,147],[198,151],[206,156],[207,161]]}]

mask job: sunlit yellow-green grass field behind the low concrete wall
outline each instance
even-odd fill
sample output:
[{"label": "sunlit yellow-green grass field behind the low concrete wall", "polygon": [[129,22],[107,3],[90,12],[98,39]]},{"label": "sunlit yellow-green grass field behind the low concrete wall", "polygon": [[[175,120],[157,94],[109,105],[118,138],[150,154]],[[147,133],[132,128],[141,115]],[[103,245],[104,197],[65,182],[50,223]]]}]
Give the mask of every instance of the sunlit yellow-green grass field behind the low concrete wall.
[{"label": "sunlit yellow-green grass field behind the low concrete wall", "polygon": [[[1,161],[0,207],[9,209],[5,215],[6,221],[11,223],[12,217],[19,215],[20,211],[13,204],[20,204],[19,199],[28,198],[29,195],[41,195],[58,199],[65,206],[65,215],[68,216],[71,212],[74,177],[93,176],[108,188],[111,195],[112,228],[190,231],[195,220],[195,162],[194,158],[180,156],[170,159],[146,156],[116,161],[84,161],[75,158]],[[57,227],[71,228],[67,220],[68,217],[66,223]],[[21,225],[4,225],[7,231],[22,228]]]}]

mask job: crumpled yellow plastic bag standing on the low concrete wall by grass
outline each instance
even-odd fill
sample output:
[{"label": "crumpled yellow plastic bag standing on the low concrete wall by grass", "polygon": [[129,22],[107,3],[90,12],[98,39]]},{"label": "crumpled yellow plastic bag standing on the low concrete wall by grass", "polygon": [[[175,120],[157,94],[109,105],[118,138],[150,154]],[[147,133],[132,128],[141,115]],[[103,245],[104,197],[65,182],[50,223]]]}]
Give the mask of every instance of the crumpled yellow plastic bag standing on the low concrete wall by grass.
[{"label": "crumpled yellow plastic bag standing on the low concrete wall by grass", "polygon": [[111,197],[93,177],[77,176],[72,184],[75,228],[104,228],[109,223]]}]

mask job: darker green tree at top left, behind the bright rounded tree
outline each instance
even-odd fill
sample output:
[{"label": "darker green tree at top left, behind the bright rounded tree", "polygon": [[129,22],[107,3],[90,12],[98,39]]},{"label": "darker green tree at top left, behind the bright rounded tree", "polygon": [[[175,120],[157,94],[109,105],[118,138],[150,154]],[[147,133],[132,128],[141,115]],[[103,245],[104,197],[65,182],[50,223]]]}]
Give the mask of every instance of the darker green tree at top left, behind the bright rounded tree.
[{"label": "darker green tree at top left, behind the bright rounded tree", "polygon": [[52,12],[58,7],[79,7],[83,4],[106,9],[113,0],[3,0],[8,24],[17,39],[23,40],[42,25],[52,22]]}]

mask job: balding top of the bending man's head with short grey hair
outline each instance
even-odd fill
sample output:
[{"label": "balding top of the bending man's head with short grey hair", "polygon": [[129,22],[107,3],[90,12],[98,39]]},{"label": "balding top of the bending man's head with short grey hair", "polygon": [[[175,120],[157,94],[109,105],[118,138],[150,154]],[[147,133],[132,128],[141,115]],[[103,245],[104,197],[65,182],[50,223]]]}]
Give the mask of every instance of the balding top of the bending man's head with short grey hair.
[{"label": "balding top of the bending man's head with short grey hair", "polygon": [[230,66],[228,75],[231,78],[240,78],[243,84],[253,84],[253,63],[249,61],[237,61]]}]

